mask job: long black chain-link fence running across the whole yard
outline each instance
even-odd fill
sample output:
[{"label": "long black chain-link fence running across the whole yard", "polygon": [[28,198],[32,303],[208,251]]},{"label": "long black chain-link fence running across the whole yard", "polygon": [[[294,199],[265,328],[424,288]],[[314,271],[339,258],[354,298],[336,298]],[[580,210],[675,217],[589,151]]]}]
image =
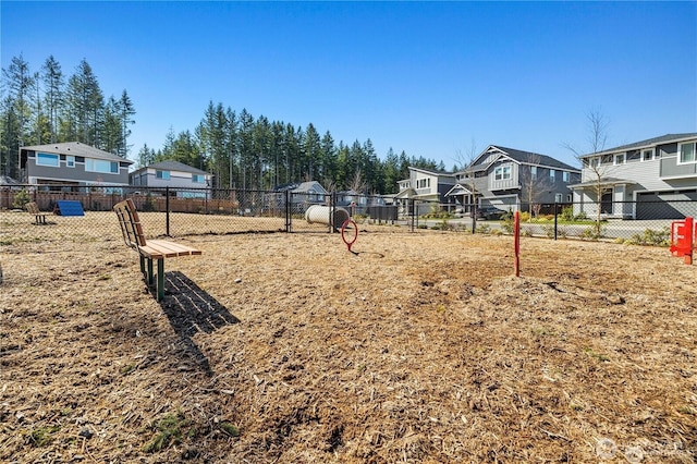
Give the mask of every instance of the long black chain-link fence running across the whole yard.
[{"label": "long black chain-link fence running across the whole yard", "polygon": [[[14,185],[0,188],[0,246],[23,242],[120,239],[113,205],[132,198],[147,236],[234,233],[337,232],[352,218],[358,224],[402,227],[411,232],[441,230],[511,234],[509,210],[381,196],[292,191],[154,187],[66,187]],[[78,203],[84,216],[61,215],[59,202]],[[25,205],[47,213],[36,221]],[[549,239],[601,240],[667,246],[671,223],[697,217],[697,202],[652,200],[537,205],[521,211],[521,234]],[[388,228],[389,227],[389,228]],[[372,228],[379,232],[381,228]]]}]

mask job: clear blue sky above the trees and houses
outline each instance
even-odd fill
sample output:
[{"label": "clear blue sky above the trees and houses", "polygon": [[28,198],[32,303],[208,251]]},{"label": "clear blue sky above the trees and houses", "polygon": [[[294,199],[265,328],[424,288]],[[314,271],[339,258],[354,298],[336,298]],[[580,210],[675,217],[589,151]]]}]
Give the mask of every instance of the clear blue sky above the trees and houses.
[{"label": "clear blue sky above the trees and houses", "polygon": [[143,144],[208,102],[448,169],[501,145],[577,166],[586,115],[608,147],[697,132],[697,2],[0,2],[2,68],[82,59],[129,93]]}]

